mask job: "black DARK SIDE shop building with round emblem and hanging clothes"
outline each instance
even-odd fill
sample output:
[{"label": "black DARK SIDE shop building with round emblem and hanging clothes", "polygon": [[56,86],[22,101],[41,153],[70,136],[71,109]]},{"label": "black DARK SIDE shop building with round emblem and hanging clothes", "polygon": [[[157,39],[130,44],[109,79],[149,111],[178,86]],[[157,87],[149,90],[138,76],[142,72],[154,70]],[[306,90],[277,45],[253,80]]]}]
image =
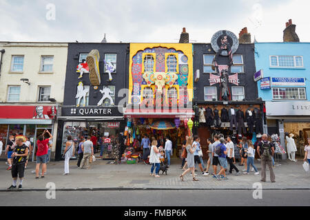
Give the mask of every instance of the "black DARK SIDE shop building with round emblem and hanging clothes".
[{"label": "black DARK SIDE shop building with round emblem and hanging clothes", "polygon": [[254,43],[239,43],[220,30],[211,43],[194,43],[194,127],[203,138],[231,135],[256,140],[264,133],[265,107],[258,98]]}]

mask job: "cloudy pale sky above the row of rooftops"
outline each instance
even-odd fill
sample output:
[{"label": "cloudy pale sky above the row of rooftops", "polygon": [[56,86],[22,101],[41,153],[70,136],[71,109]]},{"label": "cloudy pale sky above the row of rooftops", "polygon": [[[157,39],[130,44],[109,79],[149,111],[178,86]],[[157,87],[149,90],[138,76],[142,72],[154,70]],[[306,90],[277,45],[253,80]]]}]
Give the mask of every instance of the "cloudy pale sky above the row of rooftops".
[{"label": "cloudy pale sky above the row of rooftops", "polygon": [[244,27],[258,42],[282,41],[285,22],[310,42],[309,0],[0,0],[0,41],[192,43]]}]

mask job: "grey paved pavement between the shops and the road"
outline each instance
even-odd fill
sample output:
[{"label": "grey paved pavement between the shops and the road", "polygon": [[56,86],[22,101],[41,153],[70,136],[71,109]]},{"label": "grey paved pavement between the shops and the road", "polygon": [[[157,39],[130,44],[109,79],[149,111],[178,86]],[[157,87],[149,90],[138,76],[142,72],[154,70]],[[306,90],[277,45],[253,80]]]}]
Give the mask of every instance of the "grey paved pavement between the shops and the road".
[{"label": "grey paved pavement between the shops and the road", "polygon": [[[227,175],[229,179],[218,181],[211,175],[204,177],[198,172],[199,181],[192,181],[189,173],[185,181],[180,181],[180,159],[172,159],[167,174],[161,177],[150,177],[150,165],[143,162],[138,164],[108,164],[109,161],[96,160],[92,169],[79,169],[76,160],[70,160],[70,175],[62,175],[64,162],[48,163],[48,173],[44,179],[35,179],[32,174],[35,163],[30,162],[25,170],[23,191],[48,190],[47,184],[52,182],[56,190],[79,191],[79,190],[253,190],[255,183],[260,182],[260,175]],[[267,168],[267,182],[261,183],[267,190],[309,190],[310,174],[304,172],[302,159],[298,162],[280,161],[280,166],[274,167],[276,183],[269,180]],[[255,162],[260,172],[260,162]],[[244,166],[237,167],[242,170]],[[5,162],[0,162],[0,192],[12,184],[10,171],[6,170]],[[219,169],[219,167],[218,167]],[[213,169],[211,168],[211,172]],[[210,173],[211,173],[210,172]]]}]

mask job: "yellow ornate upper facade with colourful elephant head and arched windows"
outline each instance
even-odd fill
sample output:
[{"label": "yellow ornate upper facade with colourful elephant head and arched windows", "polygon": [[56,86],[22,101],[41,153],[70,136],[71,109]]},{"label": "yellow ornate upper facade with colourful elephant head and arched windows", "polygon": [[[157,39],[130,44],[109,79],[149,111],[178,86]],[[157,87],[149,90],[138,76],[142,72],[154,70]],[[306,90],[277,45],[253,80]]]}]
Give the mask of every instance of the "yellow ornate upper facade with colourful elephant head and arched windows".
[{"label": "yellow ornate upper facade with colourful elephant head and arched windows", "polygon": [[192,58],[190,43],[131,43],[128,103],[184,109],[193,98]]}]

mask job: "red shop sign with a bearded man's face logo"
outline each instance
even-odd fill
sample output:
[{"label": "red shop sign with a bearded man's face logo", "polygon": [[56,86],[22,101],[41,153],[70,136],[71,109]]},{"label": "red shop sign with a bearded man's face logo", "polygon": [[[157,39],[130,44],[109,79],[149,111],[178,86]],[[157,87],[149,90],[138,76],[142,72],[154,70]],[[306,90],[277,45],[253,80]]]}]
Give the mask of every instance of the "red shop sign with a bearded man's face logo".
[{"label": "red shop sign with a bearded man's face logo", "polygon": [[56,116],[54,106],[0,106],[0,118],[14,119],[53,119]]}]

